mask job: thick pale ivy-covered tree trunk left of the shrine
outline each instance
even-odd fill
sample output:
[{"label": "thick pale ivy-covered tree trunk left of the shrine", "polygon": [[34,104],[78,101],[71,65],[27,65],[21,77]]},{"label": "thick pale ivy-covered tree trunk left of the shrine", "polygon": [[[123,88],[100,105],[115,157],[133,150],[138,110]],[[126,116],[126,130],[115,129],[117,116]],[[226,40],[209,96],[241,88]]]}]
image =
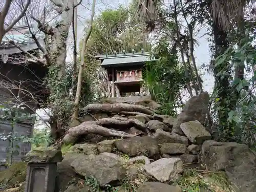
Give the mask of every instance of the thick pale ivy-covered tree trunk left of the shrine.
[{"label": "thick pale ivy-covered tree trunk left of the shrine", "polygon": [[[66,56],[67,56],[67,39],[69,28],[73,20],[73,9],[78,6],[81,1],[74,5],[75,0],[63,0],[63,3],[58,3],[55,0],[51,2],[56,6],[56,11],[61,15],[61,19],[54,27],[45,23],[45,18],[42,22],[36,20],[38,29],[47,35],[51,36],[51,50],[48,54],[50,57],[49,72],[48,72],[48,87],[50,88],[50,107],[52,110],[52,134],[61,131],[61,127],[68,123],[67,108],[71,103],[67,96],[66,87]],[[60,130],[58,130],[60,128]]]}]

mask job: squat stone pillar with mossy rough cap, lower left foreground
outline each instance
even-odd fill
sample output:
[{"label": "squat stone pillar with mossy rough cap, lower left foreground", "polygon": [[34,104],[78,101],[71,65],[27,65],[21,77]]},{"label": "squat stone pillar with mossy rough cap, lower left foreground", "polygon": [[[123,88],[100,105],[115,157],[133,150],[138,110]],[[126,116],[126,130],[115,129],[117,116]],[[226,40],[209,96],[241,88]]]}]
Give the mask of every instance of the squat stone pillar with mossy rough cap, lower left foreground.
[{"label": "squat stone pillar with mossy rough cap, lower left foreground", "polygon": [[28,162],[25,192],[54,192],[57,187],[57,162],[62,161],[59,148],[35,148],[23,161]]}]

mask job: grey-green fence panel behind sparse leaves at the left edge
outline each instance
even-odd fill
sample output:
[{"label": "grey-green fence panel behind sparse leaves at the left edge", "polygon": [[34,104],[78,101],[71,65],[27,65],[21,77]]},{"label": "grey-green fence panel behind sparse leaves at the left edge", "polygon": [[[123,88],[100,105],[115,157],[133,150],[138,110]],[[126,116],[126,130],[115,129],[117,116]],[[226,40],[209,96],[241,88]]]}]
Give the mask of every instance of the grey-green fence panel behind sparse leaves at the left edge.
[{"label": "grey-green fence panel behind sparse leaves at the left edge", "polygon": [[[0,133],[6,137],[10,133],[16,133],[17,136],[31,137],[33,133],[33,124],[28,123],[15,123],[12,127],[9,121],[0,121]],[[31,150],[30,143],[24,143],[19,141],[11,142],[10,139],[0,140],[0,170],[4,169],[4,164],[12,162],[22,161],[22,157],[25,156]]]}]

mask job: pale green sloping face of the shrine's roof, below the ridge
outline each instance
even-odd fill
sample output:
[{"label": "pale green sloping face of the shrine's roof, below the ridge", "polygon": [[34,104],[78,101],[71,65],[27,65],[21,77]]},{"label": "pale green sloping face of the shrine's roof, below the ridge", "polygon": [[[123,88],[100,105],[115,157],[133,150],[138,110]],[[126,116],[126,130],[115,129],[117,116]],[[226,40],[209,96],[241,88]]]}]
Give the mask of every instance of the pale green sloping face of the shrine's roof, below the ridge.
[{"label": "pale green sloping face of the shrine's roof, below the ridge", "polygon": [[101,63],[103,68],[109,67],[123,67],[123,66],[134,66],[143,65],[145,61],[156,61],[155,57],[151,58],[150,54],[147,55],[136,55],[136,56],[122,56],[122,57],[111,57],[105,58]]}]

